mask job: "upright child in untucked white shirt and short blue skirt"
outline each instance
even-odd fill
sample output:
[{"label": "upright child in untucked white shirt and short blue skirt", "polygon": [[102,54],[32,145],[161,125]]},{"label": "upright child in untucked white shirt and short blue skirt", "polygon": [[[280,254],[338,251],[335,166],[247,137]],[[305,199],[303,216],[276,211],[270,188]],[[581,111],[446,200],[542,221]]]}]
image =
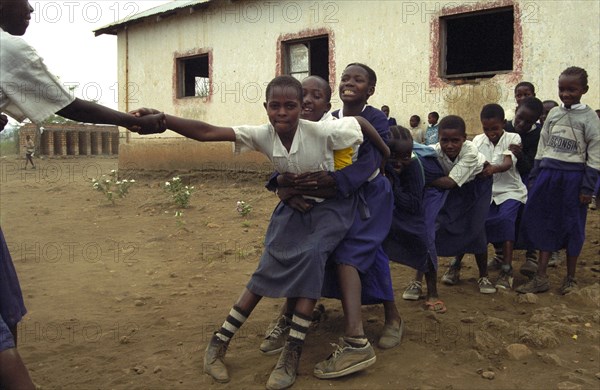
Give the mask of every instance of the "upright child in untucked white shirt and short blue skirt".
[{"label": "upright child in untucked white shirt and short blue skirt", "polygon": [[492,203],[485,221],[485,231],[488,242],[503,247],[504,262],[496,288],[510,290],[513,285],[515,226],[521,205],[527,200],[527,188],[517,172],[516,157],[509,146],[519,145],[521,137],[504,131],[504,110],[498,104],[485,105],[480,118],[484,134],[477,135],[473,143],[490,164],[484,172],[489,170],[494,175]]}]

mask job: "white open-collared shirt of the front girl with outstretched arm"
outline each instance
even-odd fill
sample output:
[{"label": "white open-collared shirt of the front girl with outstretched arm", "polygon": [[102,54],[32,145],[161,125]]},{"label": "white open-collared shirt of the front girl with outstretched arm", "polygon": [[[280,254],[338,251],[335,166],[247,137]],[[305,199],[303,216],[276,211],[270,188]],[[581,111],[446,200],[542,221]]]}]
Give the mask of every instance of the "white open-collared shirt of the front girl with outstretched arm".
[{"label": "white open-collared shirt of the front girl with outstretched arm", "polygon": [[321,122],[300,119],[289,152],[271,124],[235,126],[233,130],[235,153],[261,152],[281,173],[334,171],[333,151],[359,145],[363,141],[360,125],[354,117]]}]

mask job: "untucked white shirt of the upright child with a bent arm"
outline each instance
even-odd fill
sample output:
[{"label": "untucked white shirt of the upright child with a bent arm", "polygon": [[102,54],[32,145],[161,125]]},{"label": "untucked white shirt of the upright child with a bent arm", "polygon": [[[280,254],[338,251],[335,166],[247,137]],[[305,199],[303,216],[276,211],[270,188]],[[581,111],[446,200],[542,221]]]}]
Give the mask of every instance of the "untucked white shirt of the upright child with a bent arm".
[{"label": "untucked white shirt of the upright child with a bent arm", "polygon": [[512,159],[512,166],[508,171],[496,173],[493,176],[492,201],[498,205],[508,199],[525,203],[527,201],[527,188],[517,171],[517,157],[508,150],[509,145],[521,143],[521,136],[517,133],[505,131],[498,143],[494,145],[485,134],[479,134],[473,138],[473,143],[492,165],[501,164],[504,161],[504,156],[510,156]]}]

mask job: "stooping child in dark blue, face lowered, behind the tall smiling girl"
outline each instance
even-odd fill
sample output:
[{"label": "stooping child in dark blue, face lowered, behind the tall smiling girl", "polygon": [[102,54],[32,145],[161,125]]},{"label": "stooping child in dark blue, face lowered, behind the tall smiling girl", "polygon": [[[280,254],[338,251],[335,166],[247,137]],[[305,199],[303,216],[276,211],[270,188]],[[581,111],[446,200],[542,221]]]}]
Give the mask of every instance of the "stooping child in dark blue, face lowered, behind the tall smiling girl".
[{"label": "stooping child in dark blue, face lowered, behind the tall smiling girl", "polygon": [[[433,148],[413,145],[410,131],[404,127],[391,127],[390,131],[392,141],[389,143],[390,159],[386,165],[386,177],[394,191],[394,211],[392,227],[383,248],[390,260],[417,270],[416,279],[402,298],[418,300],[425,275],[425,307],[442,314],[446,312],[446,306],[437,294],[435,218],[446,191],[426,188],[425,185],[445,175]],[[415,150],[418,152],[415,153]]]}]

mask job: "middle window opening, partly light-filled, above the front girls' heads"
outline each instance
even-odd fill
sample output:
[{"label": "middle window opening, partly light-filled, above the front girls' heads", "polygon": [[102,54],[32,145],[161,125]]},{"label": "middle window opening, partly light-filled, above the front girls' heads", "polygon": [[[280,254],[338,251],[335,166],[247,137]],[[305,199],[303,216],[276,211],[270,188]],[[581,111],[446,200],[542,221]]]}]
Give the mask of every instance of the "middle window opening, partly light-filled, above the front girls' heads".
[{"label": "middle window opening, partly light-filled, above the front girls' heads", "polygon": [[316,75],[329,81],[329,38],[286,42],[285,64],[286,74],[298,80]]}]

